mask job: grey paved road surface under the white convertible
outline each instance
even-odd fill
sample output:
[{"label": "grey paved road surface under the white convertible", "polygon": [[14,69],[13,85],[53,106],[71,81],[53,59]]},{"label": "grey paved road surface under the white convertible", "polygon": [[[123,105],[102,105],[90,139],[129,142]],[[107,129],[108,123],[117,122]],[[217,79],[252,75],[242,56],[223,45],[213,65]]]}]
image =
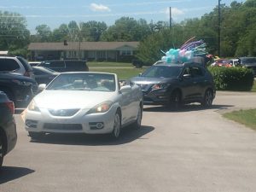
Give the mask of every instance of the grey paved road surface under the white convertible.
[{"label": "grey paved road surface under the white convertible", "polygon": [[119,142],[66,135],[33,142],[16,114],[19,139],[0,191],[256,191],[256,132],[221,117],[256,108],[256,94],[218,92],[213,104],[176,113],[145,106],[142,129],[125,130]]}]

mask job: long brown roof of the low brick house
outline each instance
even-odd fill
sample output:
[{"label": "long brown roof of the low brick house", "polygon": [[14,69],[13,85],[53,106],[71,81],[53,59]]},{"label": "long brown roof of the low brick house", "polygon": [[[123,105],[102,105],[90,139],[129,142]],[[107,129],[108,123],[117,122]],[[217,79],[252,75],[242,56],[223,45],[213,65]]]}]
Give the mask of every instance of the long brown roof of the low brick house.
[{"label": "long brown roof of the low brick house", "polygon": [[[137,49],[139,42],[81,42],[80,49],[83,50],[119,50],[128,46]],[[74,50],[79,49],[79,42],[63,43],[31,43],[29,50]]]}]

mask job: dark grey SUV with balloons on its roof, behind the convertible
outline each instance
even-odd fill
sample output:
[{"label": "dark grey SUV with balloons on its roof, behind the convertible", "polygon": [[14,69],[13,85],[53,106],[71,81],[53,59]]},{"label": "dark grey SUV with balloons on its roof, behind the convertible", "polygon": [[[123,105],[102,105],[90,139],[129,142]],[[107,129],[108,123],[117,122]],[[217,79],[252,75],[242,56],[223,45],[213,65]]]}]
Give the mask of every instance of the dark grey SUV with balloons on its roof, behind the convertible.
[{"label": "dark grey SUV with balloons on its roof, behind the convertible", "polygon": [[171,108],[190,102],[200,102],[209,108],[216,92],[212,74],[194,62],[168,64],[158,61],[131,82],[141,86],[145,104],[163,104]]}]

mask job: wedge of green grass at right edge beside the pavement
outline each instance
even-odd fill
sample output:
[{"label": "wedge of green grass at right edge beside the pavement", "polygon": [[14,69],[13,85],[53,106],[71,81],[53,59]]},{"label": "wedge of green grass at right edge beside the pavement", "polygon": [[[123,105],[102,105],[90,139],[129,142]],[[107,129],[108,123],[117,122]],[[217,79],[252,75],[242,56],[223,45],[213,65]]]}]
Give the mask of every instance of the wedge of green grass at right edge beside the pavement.
[{"label": "wedge of green grass at right edge beside the pavement", "polygon": [[240,124],[246,125],[256,131],[256,109],[224,113],[223,116],[227,119],[231,119]]}]

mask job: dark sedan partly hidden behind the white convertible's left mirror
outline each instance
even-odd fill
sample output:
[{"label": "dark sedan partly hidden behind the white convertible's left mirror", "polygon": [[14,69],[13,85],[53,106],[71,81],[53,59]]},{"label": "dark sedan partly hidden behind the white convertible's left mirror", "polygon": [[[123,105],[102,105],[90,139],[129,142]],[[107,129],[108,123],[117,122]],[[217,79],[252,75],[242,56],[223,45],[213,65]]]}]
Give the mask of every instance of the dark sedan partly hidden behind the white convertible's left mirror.
[{"label": "dark sedan partly hidden behind the white convertible's left mirror", "polygon": [[55,77],[60,74],[47,67],[35,66],[32,67],[32,69],[38,84],[49,84],[49,82],[51,82],[52,79],[55,79]]}]

